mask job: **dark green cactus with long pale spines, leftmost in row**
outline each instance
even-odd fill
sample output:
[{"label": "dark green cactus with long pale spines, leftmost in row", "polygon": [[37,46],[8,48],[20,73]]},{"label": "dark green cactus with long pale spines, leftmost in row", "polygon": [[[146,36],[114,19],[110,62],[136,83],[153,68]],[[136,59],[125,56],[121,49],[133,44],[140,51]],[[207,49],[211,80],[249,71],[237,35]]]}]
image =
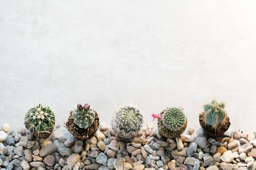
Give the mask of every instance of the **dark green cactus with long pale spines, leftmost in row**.
[{"label": "dark green cactus with long pale spines, leftmost in row", "polygon": [[41,103],[29,109],[24,122],[26,128],[39,138],[48,137],[55,125],[55,116],[51,109]]}]

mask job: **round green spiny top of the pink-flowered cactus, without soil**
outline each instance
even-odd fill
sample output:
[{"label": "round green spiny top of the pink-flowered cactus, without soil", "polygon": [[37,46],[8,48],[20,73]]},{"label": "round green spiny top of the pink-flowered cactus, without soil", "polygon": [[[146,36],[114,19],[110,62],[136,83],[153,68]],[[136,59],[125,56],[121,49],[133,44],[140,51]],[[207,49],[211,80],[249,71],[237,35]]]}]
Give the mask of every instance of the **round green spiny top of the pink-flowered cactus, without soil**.
[{"label": "round green spiny top of the pink-flowered cactus, without soil", "polygon": [[181,108],[167,108],[163,113],[163,125],[170,131],[186,126],[187,118]]}]

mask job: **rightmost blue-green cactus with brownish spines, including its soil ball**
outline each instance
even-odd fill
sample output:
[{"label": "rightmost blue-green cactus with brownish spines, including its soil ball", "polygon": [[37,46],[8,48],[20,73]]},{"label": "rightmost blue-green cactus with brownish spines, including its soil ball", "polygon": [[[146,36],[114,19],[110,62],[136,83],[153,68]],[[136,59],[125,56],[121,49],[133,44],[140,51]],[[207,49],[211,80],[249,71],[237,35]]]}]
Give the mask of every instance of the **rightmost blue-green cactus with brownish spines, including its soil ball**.
[{"label": "rightmost blue-green cactus with brownish spines, including its soil ball", "polygon": [[199,115],[199,122],[209,136],[221,136],[230,127],[230,119],[225,111],[225,103],[215,99],[204,105],[204,112]]}]

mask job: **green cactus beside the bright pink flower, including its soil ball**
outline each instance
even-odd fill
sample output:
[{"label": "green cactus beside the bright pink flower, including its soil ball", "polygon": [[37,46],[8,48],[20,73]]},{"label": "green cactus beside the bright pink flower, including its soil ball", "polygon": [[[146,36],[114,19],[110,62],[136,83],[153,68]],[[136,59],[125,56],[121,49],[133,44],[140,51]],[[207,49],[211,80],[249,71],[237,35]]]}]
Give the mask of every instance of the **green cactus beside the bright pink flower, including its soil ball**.
[{"label": "green cactus beside the bright pink flower, including its soil ball", "polygon": [[167,138],[180,136],[184,132],[187,125],[187,118],[182,108],[166,108],[158,119],[158,129],[160,133]]}]

